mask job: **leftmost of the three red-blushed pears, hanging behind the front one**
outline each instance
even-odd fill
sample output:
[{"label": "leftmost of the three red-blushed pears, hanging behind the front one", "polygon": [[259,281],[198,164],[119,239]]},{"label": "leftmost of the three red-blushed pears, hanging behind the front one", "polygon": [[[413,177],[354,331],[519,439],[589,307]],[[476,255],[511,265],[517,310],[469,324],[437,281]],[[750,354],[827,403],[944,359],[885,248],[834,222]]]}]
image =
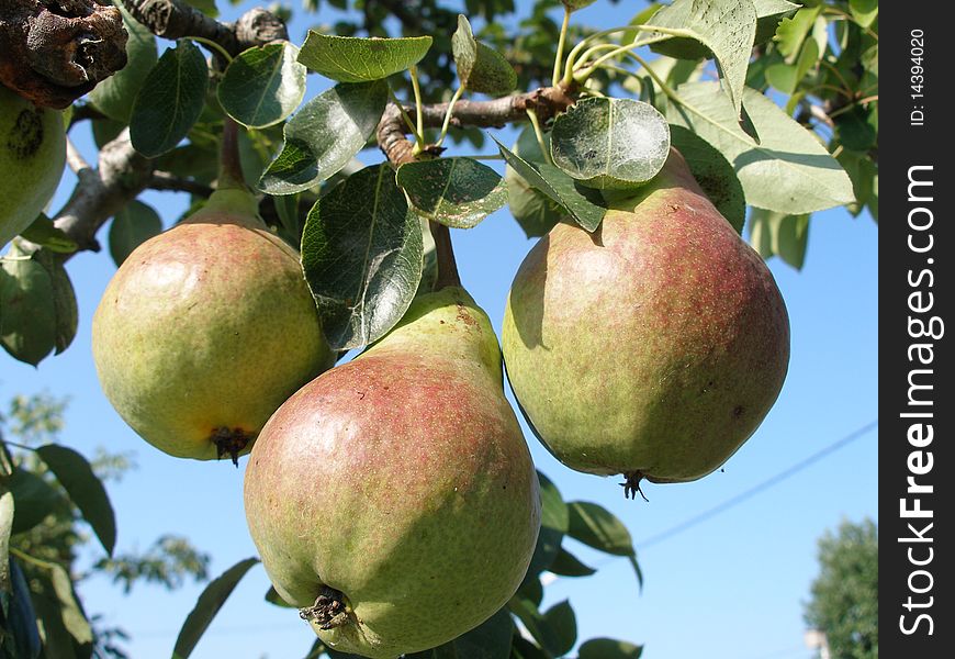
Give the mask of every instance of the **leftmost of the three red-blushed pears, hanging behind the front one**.
[{"label": "leftmost of the three red-blushed pears, hanging behind the front one", "polygon": [[93,316],[113,407],[169,455],[247,453],[272,412],[334,362],[297,253],[226,189],[123,261]]}]

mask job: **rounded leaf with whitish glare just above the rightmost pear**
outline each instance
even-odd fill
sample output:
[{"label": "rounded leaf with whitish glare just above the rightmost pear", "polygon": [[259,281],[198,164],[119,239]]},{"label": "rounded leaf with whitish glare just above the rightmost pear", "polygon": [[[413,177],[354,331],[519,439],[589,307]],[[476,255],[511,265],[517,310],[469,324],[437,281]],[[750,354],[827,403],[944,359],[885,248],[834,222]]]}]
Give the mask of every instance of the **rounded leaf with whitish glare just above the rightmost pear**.
[{"label": "rounded leaf with whitish glare just above the rightmost pear", "polygon": [[650,103],[587,98],[557,118],[553,164],[589,188],[633,188],[649,181],[670,155],[670,125]]}]

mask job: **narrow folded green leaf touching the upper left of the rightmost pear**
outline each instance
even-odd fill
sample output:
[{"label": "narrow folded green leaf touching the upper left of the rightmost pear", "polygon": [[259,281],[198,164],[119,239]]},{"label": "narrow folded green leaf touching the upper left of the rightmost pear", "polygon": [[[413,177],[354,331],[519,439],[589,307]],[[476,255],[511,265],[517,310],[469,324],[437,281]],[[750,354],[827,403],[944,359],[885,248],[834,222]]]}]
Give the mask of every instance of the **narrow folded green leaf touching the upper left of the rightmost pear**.
[{"label": "narrow folded green leaf touching the upper left of the rightmost pear", "polygon": [[517,154],[508,150],[506,146],[497,142],[501,155],[514,170],[520,175],[531,187],[548,196],[574,222],[588,232],[596,231],[604,220],[607,209],[603,204],[603,198],[596,191],[577,187],[576,181],[563,170],[547,163],[528,163]]}]

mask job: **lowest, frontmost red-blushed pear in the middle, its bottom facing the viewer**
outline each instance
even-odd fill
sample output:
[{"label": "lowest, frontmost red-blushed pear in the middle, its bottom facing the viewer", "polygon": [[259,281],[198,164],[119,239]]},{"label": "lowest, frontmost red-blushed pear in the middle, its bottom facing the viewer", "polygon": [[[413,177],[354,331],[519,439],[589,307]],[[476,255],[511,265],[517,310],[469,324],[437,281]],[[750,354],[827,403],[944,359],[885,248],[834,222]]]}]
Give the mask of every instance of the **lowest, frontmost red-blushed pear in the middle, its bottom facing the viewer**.
[{"label": "lowest, frontmost red-blushed pear in the middle, its bottom facing the viewer", "polygon": [[539,496],[497,338],[457,287],[279,407],[245,481],[278,593],[328,647],[366,657],[436,647],[497,612],[533,554]]}]

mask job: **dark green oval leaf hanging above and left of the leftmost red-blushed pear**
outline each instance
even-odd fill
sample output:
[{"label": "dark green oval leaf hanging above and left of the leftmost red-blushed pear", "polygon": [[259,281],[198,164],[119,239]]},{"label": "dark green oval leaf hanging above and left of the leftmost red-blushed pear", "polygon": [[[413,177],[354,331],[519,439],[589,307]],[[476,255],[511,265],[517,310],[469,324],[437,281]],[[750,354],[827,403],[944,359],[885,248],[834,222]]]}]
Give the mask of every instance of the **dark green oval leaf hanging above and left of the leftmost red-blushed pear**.
[{"label": "dark green oval leaf hanging above and left of the leftmost red-blushed pear", "polygon": [[202,114],[209,68],[188,40],[167,48],[146,76],[130,119],[133,148],[149,158],[171,150]]}]

